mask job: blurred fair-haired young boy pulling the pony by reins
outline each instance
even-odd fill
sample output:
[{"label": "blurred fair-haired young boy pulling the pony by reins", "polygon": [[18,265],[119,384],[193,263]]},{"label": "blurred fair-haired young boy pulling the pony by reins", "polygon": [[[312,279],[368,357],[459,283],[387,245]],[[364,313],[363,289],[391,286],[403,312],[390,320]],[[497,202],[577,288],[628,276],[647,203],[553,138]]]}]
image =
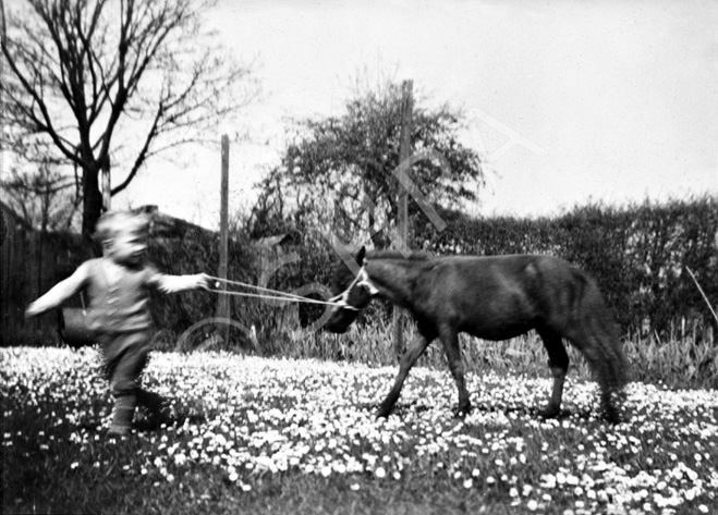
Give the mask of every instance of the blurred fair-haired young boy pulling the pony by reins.
[{"label": "blurred fair-haired young boy pulling the pony by reins", "polygon": [[87,316],[104,358],[104,372],[114,397],[108,436],[130,433],[137,405],[159,415],[162,397],[141,388],[141,376],[154,334],[147,307],[148,290],[163,293],[209,286],[209,277],[166,275],[145,262],[146,217],[110,211],[97,224],[104,256],[89,259],[64,281],[32,303],[25,311],[34,317],[57,308],[81,290],[89,296]]}]

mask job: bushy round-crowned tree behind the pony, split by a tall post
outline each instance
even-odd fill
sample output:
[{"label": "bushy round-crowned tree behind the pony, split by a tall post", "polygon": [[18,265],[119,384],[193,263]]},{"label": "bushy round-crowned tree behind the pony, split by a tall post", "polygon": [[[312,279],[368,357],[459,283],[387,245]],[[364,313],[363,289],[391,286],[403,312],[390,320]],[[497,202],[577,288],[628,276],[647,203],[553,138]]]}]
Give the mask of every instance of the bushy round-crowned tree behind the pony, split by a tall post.
[{"label": "bushy round-crowned tree behind the pony, split by a tall post", "polygon": [[[281,164],[259,184],[251,221],[266,230],[268,221],[293,218],[350,237],[391,225],[402,187],[393,173],[400,165],[402,109],[401,85],[386,81],[373,89],[357,87],[341,115],[296,121]],[[462,127],[461,112],[448,105],[413,108],[412,151],[433,157],[416,160],[407,174],[431,204],[476,199],[483,170],[478,154],[460,142]],[[410,217],[418,209],[410,201]]]}]

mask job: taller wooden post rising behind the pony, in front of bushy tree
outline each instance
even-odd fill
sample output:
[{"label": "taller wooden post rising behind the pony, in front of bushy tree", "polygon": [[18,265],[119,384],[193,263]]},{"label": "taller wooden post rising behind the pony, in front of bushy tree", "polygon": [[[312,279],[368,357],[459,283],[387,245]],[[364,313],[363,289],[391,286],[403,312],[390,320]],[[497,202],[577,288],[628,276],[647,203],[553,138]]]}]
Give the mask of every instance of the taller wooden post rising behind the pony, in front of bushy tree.
[{"label": "taller wooden post rising behind the pony, in front of bushy tree", "polygon": [[[399,167],[409,161],[412,152],[412,112],[414,110],[414,99],[412,96],[413,81],[404,81],[401,85],[402,97],[402,117],[401,117],[401,146],[399,148]],[[409,172],[409,169],[406,169]],[[399,237],[402,240],[405,248],[409,248],[409,192],[399,185],[399,220],[397,229]],[[401,323],[402,309],[394,306],[392,311],[393,333],[394,333],[394,354],[397,359],[404,353],[404,324]]]}]

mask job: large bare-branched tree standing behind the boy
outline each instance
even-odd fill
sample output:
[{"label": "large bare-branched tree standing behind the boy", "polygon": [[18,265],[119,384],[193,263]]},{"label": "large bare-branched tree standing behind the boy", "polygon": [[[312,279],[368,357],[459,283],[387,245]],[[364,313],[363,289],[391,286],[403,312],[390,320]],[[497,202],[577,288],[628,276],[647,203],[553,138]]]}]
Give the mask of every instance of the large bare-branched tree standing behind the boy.
[{"label": "large bare-branched tree standing behind the boy", "polygon": [[5,13],[3,2],[3,149],[32,140],[77,167],[85,234],[102,212],[100,176],[124,173],[115,195],[153,156],[215,139],[257,95],[251,66],[203,29],[212,4],[24,0]]}]

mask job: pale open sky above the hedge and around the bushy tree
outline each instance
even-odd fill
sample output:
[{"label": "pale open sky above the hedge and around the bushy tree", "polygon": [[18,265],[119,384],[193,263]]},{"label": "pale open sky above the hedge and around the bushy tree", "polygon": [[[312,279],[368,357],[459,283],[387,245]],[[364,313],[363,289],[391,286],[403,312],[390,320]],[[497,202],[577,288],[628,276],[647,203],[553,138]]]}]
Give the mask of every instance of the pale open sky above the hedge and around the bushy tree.
[{"label": "pale open sky above the hedge and around the bushy tree", "polygon": [[[263,88],[231,148],[231,211],[278,162],[287,118],[340,114],[361,70],[464,110],[487,172],[474,214],[718,195],[715,0],[220,0],[207,23]],[[114,206],[217,226],[219,146],[185,162],[150,165]]]}]

